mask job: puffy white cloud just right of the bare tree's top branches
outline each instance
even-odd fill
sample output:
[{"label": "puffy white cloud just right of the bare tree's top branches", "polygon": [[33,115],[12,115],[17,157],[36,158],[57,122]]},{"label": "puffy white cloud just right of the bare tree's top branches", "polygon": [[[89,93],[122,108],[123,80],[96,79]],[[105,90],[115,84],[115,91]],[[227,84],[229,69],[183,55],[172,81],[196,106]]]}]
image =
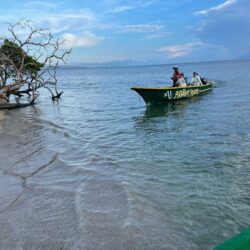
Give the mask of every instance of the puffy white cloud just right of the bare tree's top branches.
[{"label": "puffy white cloud just right of the bare tree's top branches", "polygon": [[84,31],[81,35],[65,33],[62,36],[63,46],[66,48],[94,47],[104,38],[96,36],[90,31]]}]

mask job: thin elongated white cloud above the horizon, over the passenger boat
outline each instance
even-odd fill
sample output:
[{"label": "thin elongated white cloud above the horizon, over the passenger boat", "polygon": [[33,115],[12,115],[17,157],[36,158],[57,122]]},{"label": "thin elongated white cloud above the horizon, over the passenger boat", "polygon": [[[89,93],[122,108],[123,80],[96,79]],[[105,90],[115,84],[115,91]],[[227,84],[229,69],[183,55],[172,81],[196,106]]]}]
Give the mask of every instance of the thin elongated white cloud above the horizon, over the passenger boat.
[{"label": "thin elongated white cloud above the horizon, over the passenger boat", "polygon": [[209,48],[215,48],[217,46],[213,44],[205,44],[202,42],[196,42],[196,43],[186,43],[186,44],[179,44],[179,45],[173,45],[173,46],[166,46],[161,49],[159,49],[160,52],[165,53],[169,58],[177,58],[189,55],[193,53],[194,51],[200,50],[200,49],[209,49]]}]

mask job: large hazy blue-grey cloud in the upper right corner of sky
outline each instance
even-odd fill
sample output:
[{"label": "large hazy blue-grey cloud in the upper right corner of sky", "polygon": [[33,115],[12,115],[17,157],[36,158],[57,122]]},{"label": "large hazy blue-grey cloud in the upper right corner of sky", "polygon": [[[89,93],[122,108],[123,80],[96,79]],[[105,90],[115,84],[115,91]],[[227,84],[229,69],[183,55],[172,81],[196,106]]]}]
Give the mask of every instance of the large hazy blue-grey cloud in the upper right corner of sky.
[{"label": "large hazy blue-grey cloud in the upper right corner of sky", "polygon": [[250,1],[237,0],[227,11],[209,12],[196,31],[204,43],[224,47],[230,58],[250,58]]}]

